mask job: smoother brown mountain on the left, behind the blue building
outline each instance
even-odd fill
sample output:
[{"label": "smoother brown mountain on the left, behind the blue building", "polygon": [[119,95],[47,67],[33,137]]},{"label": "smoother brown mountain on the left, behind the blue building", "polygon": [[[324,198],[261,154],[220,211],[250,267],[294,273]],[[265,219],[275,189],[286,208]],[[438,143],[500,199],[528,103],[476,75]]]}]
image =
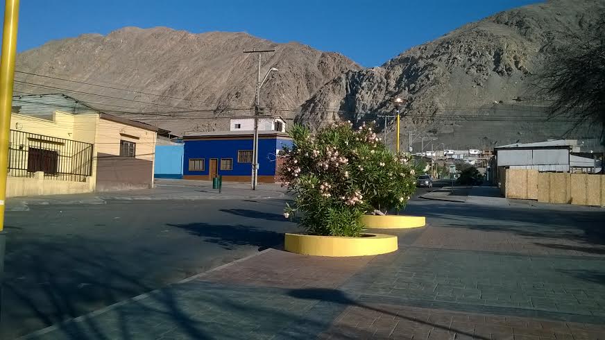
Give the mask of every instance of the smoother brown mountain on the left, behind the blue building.
[{"label": "smoother brown mountain on the left, behind the blue building", "polygon": [[[126,27],[108,35],[51,41],[19,53],[17,94],[65,93],[99,110],[183,133],[228,128],[226,117],[250,115],[257,54],[263,53],[260,103],[291,118],[319,87],[360,67],[339,53],[247,33],[192,34],[170,28]],[[20,72],[19,72],[20,71]],[[75,81],[66,81],[75,80]],[[102,85],[102,86],[96,86]],[[159,96],[158,96],[159,95]],[[129,112],[144,112],[131,114]]]}]

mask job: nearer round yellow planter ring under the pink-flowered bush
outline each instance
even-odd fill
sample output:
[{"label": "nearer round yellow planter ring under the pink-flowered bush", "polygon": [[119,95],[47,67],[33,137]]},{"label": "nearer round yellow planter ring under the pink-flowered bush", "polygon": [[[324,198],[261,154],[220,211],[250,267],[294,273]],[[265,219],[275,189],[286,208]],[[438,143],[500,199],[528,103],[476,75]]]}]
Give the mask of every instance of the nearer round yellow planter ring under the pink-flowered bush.
[{"label": "nearer round yellow planter ring under the pink-flowered bush", "polygon": [[291,253],[316,256],[364,256],[397,250],[397,237],[364,234],[362,237],[286,234],[285,248]]}]

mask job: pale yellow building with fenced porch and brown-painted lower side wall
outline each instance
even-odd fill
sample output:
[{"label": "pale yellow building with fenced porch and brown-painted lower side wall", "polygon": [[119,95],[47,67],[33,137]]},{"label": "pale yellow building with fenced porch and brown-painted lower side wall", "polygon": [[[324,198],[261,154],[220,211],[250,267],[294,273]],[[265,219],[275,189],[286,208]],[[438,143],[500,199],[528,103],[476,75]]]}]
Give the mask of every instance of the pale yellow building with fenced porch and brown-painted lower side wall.
[{"label": "pale yellow building with fenced porch and brown-painted lower side wall", "polygon": [[156,135],[62,94],[15,96],[7,196],[153,187]]}]

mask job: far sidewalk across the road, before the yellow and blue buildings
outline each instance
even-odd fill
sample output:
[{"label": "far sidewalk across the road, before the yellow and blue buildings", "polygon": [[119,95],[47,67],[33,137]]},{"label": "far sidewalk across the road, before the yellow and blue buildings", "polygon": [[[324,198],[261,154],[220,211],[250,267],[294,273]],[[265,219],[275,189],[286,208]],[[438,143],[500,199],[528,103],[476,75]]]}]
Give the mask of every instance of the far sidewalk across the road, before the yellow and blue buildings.
[{"label": "far sidewalk across the road, before the yellow and blue buildings", "polygon": [[207,199],[264,199],[282,198],[286,190],[279,184],[259,184],[256,190],[250,184],[223,182],[221,194],[212,189],[212,182],[201,180],[155,180],[153,189],[122,192],[91,192],[87,194],[15,197],[7,200],[7,210],[28,210],[28,205],[49,204],[105,204],[108,200],[207,200]]}]

